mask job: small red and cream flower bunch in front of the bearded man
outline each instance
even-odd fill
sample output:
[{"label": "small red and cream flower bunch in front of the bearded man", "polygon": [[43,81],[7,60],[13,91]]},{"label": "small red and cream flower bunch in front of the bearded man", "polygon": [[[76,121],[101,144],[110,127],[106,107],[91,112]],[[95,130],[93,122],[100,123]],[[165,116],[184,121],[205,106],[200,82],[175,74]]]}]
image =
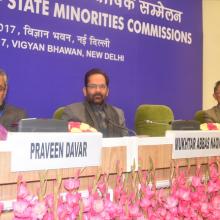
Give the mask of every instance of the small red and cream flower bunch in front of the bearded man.
[{"label": "small red and cream flower bunch in front of the bearded man", "polygon": [[68,131],[73,133],[80,132],[97,132],[97,130],[90,125],[83,122],[74,122],[71,121],[68,123]]}]

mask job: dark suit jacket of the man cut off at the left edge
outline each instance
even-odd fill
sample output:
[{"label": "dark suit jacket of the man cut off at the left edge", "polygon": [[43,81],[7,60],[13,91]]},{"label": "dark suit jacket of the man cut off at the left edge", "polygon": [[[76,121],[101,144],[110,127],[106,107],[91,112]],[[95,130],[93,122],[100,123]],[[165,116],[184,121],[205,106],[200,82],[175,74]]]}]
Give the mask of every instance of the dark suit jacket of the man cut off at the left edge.
[{"label": "dark suit jacket of the man cut off at the left edge", "polygon": [[26,117],[24,110],[6,104],[0,116],[0,124],[8,131],[17,131],[18,122]]}]

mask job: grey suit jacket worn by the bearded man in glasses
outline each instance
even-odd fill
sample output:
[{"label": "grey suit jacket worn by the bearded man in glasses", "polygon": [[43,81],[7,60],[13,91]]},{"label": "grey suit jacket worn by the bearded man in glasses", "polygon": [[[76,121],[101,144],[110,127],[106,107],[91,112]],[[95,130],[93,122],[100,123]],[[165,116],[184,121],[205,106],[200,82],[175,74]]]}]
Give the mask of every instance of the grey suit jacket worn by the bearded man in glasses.
[{"label": "grey suit jacket worn by the bearded man in glasses", "polygon": [[[121,136],[127,136],[128,135],[128,129],[125,125],[125,117],[124,112],[115,106],[112,106],[113,109],[117,112],[118,115],[118,122],[117,125],[113,125],[118,127],[120,129],[122,135]],[[86,108],[83,102],[73,103],[64,108],[62,117],[63,120],[66,121],[78,121],[78,122],[84,122],[86,124],[89,124],[86,119]],[[90,125],[92,126],[92,125]]]}]

